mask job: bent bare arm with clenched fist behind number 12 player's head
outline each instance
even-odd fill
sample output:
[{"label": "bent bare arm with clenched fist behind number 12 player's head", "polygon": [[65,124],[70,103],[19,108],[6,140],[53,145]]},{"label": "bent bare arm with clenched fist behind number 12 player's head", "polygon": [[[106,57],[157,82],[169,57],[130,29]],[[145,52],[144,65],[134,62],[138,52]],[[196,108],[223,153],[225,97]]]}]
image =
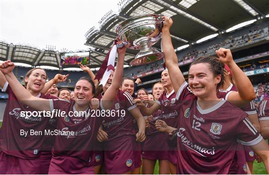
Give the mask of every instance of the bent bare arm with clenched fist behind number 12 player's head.
[{"label": "bent bare arm with clenched fist behind number 12 player's head", "polygon": [[231,69],[238,89],[238,92],[232,92],[229,95],[228,101],[238,107],[247,105],[255,98],[255,91],[250,79],[235,63],[230,49],[220,48],[216,50],[216,54]]}]

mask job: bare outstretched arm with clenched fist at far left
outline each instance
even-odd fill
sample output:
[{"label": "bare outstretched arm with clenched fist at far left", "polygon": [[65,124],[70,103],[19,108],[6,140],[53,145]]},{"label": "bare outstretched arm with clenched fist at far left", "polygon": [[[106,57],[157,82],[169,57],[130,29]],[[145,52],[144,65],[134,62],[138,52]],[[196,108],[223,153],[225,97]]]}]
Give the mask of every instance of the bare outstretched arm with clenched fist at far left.
[{"label": "bare outstretched arm with clenched fist at far left", "polygon": [[4,74],[6,81],[19,101],[38,111],[50,111],[49,100],[34,97],[16,79],[12,70],[15,65],[10,60],[0,63],[0,71]]}]

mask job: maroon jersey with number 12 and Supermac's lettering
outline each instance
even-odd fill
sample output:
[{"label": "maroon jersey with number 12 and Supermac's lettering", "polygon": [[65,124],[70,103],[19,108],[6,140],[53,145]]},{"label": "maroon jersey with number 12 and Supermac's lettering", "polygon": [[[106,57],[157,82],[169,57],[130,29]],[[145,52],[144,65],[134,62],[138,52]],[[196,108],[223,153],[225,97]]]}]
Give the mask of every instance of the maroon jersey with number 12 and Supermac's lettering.
[{"label": "maroon jersey with number 12 and Supermac's lettering", "polygon": [[181,102],[176,133],[178,174],[228,174],[237,142],[252,146],[263,140],[248,115],[226,100],[203,110],[186,82],[176,99]]}]

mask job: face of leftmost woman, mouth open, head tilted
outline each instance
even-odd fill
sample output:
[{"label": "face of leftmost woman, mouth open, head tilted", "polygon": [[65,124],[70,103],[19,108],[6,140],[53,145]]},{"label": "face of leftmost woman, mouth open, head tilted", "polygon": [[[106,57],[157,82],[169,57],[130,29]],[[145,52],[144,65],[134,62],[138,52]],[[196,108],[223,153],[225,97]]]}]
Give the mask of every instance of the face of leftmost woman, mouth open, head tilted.
[{"label": "face of leftmost woman, mouth open, head tilted", "polygon": [[25,77],[24,81],[27,83],[26,89],[40,92],[46,83],[46,72],[42,69],[35,69],[28,77]]}]

